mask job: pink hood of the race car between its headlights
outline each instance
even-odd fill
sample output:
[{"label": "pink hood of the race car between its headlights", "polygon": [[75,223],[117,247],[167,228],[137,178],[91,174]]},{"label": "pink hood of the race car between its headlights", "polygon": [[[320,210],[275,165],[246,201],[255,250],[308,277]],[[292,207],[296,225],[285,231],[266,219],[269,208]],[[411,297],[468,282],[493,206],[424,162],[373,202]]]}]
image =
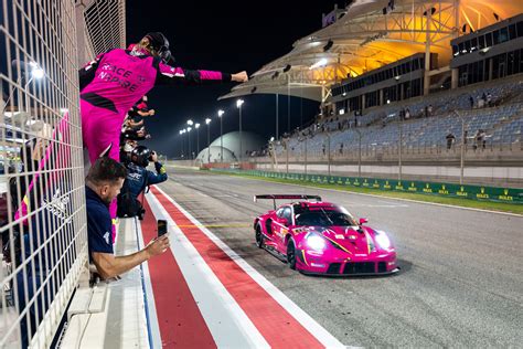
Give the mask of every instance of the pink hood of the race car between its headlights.
[{"label": "pink hood of the race car between its headlights", "polygon": [[313,230],[329,240],[334,247],[355,256],[369,255],[378,247],[374,241],[374,231],[367,226],[317,226]]}]

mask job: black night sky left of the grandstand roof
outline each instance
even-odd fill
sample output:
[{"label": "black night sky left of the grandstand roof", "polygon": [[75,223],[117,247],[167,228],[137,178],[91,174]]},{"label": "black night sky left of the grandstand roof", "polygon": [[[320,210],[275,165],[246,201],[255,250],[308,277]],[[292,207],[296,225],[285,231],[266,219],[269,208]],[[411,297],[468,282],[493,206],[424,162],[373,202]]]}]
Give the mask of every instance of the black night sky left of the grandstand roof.
[{"label": "black night sky left of the grandstand roof", "polygon": [[[166,4],[171,3],[171,8]],[[127,1],[127,40],[139,41],[147,32],[161,31],[168,36],[179,66],[216,70],[227,73],[252,73],[264,64],[288,53],[292,43],[321,29],[321,14],[344,1]],[[202,124],[200,149],[206,146],[205,117],[211,117],[211,141],[220,137],[216,112],[225,110],[223,133],[238,129],[235,99],[217,102],[233,83],[221,85],[156,87],[149,94],[149,106],[157,115],[148,118],[146,128],[152,139],[143,145],[169,157],[181,152],[179,130],[191,118]],[[287,131],[288,97],[279,97],[279,129]],[[265,139],[275,135],[275,95],[244,97],[243,129]],[[318,103],[291,97],[291,129],[310,120]],[[302,112],[301,112],[302,110]],[[196,135],[191,131],[192,149]],[[186,147],[186,145],[185,145]]]}]

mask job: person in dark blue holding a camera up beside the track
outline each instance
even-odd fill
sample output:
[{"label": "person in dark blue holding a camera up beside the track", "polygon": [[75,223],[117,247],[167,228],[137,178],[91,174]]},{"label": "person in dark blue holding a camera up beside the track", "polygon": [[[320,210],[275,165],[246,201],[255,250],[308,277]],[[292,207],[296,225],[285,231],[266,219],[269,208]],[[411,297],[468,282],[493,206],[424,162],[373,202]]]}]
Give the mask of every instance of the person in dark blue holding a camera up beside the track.
[{"label": "person in dark blue holding a camera up beside the track", "polygon": [[[164,182],[167,171],[158,161],[158,155],[145,146],[138,146],[131,151],[130,162],[127,163],[127,177],[120,194],[118,195],[119,218],[138,216],[143,218],[143,205],[138,200],[146,187]],[[156,173],[147,170],[149,161],[154,163]]]}]

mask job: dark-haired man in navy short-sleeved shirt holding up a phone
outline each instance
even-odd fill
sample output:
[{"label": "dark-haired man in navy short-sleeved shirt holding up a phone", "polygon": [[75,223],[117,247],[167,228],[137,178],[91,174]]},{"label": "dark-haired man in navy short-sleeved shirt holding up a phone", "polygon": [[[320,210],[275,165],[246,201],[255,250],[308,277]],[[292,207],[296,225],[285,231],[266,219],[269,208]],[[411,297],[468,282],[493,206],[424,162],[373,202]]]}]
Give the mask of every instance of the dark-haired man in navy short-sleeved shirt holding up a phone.
[{"label": "dark-haired man in navy short-sleeved shirt holding up a phone", "polygon": [[169,237],[163,235],[153,239],[141,251],[125,256],[114,255],[109,204],[120,192],[126,177],[124,165],[103,157],[95,161],[85,179],[89,261],[103,279],[126,273],[169,248]]}]

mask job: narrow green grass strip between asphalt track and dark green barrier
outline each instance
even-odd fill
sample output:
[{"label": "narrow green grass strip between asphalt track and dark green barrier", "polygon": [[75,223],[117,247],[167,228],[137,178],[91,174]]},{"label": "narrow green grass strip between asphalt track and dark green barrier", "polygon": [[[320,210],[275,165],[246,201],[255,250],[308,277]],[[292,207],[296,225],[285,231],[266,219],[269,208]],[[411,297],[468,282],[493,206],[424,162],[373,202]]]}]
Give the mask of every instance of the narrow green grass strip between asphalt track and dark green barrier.
[{"label": "narrow green grass strip between asphalt track and dark green barrier", "polygon": [[372,188],[357,188],[357,187],[345,187],[345,186],[337,186],[337,184],[312,183],[312,182],[291,180],[291,179],[266,178],[266,177],[242,174],[242,173],[230,173],[230,172],[215,172],[215,173],[257,179],[257,180],[263,180],[267,182],[286,183],[286,184],[290,183],[290,184],[298,184],[298,186],[308,187],[308,188],[334,189],[339,191],[373,194],[373,195],[380,195],[384,198],[407,199],[407,200],[415,200],[415,201],[421,201],[421,202],[441,203],[441,204],[449,204],[449,205],[461,207],[461,208],[509,212],[509,213],[523,215],[523,204],[517,204],[517,203],[478,201],[478,200],[471,200],[471,199],[445,198],[445,197],[439,197],[439,195],[418,194],[418,193],[409,193],[409,192],[383,191],[383,190],[377,190],[377,189],[372,189]]}]

